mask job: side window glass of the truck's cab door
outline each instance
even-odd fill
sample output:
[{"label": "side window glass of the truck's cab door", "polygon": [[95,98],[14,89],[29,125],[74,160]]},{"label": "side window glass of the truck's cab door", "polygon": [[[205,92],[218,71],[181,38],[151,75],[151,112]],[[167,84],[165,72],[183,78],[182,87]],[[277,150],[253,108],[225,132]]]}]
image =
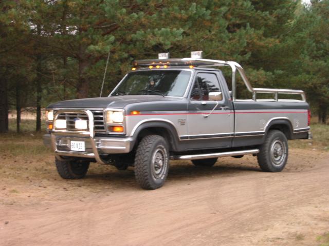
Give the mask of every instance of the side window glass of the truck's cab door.
[{"label": "side window glass of the truck's cab door", "polygon": [[214,73],[198,73],[191,92],[192,100],[209,100],[209,92],[220,92],[220,83]]}]

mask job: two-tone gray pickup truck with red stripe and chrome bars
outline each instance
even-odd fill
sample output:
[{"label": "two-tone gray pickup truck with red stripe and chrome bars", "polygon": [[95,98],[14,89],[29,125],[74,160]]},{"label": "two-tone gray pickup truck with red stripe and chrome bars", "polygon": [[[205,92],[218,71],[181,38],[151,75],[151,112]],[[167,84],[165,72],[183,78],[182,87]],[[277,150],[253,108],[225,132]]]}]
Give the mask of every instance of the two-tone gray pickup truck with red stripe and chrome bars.
[{"label": "two-tone gray pickup truck with red stripe and chrome bars", "polygon": [[[221,70],[232,69],[229,91]],[[236,98],[240,75],[250,99]],[[258,99],[268,93],[270,99]],[[300,99],[280,99],[297,94]],[[136,60],[107,97],[60,101],[46,109],[44,143],[62,178],[83,178],[90,162],[134,167],[144,189],[160,188],[169,160],[211,167],[218,157],[257,156],[265,172],[280,172],[287,139],[309,139],[310,111],[300,90],[252,88],[234,61],[190,58]]]}]

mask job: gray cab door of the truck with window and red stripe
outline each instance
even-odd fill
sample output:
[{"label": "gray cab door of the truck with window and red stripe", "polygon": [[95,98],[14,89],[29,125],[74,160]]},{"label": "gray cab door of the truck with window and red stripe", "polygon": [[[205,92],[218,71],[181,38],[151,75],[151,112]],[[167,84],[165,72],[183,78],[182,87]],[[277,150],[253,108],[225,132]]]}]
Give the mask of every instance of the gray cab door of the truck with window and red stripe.
[{"label": "gray cab door of the truck with window and red stripe", "polygon": [[[196,73],[188,103],[188,134],[189,139],[206,139],[205,148],[231,146],[233,106],[222,88],[216,72]],[[209,92],[222,92],[222,100],[210,100]]]}]

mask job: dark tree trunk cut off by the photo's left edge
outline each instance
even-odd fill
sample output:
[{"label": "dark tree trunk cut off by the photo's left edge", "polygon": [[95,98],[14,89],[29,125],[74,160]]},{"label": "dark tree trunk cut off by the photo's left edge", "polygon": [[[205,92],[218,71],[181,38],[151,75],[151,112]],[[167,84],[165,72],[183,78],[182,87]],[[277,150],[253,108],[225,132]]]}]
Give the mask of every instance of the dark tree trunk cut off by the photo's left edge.
[{"label": "dark tree trunk cut off by the photo's left edge", "polygon": [[8,131],[8,95],[7,80],[3,74],[0,76],[0,133]]}]

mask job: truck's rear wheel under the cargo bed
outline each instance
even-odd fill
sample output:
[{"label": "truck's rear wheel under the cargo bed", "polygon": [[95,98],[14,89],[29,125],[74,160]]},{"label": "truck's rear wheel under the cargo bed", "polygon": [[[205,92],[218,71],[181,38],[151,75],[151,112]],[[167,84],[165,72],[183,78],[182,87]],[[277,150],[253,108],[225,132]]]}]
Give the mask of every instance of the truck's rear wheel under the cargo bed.
[{"label": "truck's rear wheel under the cargo bed", "polygon": [[270,130],[257,155],[258,164],[264,172],[281,172],[288,159],[288,141],[283,132]]}]

